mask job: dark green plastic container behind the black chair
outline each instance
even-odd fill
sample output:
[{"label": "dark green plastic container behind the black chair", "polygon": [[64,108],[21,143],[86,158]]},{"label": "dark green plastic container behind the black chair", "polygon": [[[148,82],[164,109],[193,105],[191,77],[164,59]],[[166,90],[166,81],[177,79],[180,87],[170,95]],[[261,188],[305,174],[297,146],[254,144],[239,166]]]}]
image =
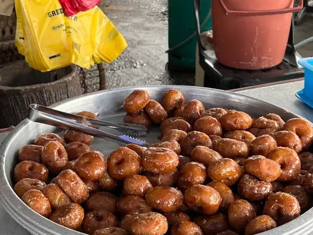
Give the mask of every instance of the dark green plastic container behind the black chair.
[{"label": "dark green plastic container behind the black chair", "polygon": [[[193,0],[168,1],[168,70],[194,70],[197,46]],[[201,0],[202,32],[212,29],[211,0]]]}]

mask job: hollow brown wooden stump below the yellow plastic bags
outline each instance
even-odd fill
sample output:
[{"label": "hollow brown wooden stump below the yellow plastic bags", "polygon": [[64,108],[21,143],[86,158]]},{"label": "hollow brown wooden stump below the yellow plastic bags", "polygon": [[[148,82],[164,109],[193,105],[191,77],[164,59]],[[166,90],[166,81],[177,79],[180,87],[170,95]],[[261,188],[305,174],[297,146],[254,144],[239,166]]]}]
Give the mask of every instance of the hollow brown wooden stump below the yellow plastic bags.
[{"label": "hollow brown wooden stump below the yellow plastic bags", "polygon": [[39,72],[23,60],[0,67],[0,128],[27,118],[29,105],[49,106],[82,94],[76,66]]}]

